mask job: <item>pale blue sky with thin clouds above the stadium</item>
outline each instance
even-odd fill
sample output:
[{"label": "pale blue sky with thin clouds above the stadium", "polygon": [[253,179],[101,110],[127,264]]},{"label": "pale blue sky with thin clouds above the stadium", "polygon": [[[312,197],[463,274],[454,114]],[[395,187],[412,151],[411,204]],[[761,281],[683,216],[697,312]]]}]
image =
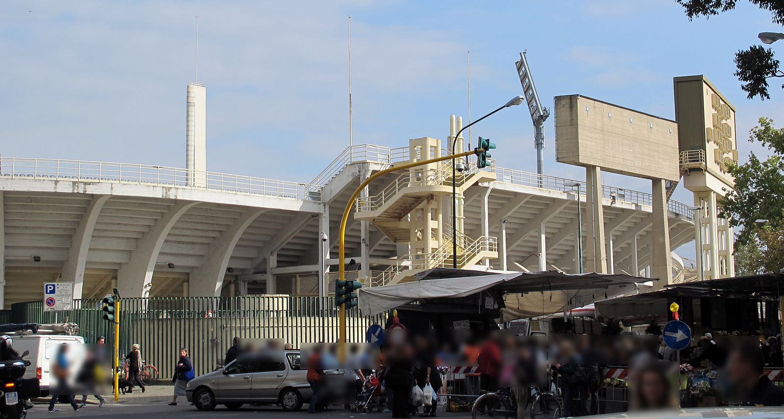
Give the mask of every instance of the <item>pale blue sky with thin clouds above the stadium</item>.
[{"label": "pale blue sky with thin clouds above the stadium", "polygon": [[[523,49],[547,106],[579,93],[673,118],[672,78],[706,74],[738,108],[744,158],[757,118],[782,114],[775,84],[771,100],[748,100],[732,76],[735,51],[782,30],[747,2],[690,22],[674,0],[12,0],[0,3],[0,153],[183,167],[197,14],[216,172],[308,182],[348,145],[348,15],[355,144],[445,138],[449,114],[467,118],[467,50],[474,117],[521,94],[514,62]],[[546,172],[584,179],[582,168],[555,163],[553,131],[550,118]],[[498,144],[499,165],[535,171],[525,107],[473,133]],[[685,190],[676,199],[691,202]]]}]

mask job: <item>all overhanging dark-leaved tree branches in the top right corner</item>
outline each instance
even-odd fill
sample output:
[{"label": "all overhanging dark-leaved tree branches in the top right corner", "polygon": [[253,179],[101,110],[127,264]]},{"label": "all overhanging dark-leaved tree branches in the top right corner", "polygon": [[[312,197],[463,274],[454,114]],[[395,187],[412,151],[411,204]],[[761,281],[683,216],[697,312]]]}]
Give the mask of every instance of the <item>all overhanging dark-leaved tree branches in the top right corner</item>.
[{"label": "all overhanging dark-leaved tree branches in the top right corner", "polygon": [[[689,20],[695,17],[716,16],[719,13],[735,9],[737,0],[676,0],[684,6]],[[773,15],[773,23],[784,25],[784,2],[781,0],[749,0],[760,9],[765,9]],[[739,50],[735,53],[735,65],[738,70],[734,75],[744,84],[743,91],[748,93],[749,99],[760,96],[760,99],[770,99],[768,93],[768,78],[784,77],[784,72],[779,70],[779,60],[773,58],[771,49],[764,49],[760,45],[752,45],[746,51]],[[784,85],[782,85],[784,88]]]}]

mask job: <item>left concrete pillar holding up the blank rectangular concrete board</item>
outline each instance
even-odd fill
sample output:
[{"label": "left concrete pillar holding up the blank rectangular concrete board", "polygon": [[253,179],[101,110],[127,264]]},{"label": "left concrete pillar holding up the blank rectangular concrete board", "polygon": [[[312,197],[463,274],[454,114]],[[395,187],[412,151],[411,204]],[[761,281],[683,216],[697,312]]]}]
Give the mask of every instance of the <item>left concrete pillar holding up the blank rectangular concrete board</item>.
[{"label": "left concrete pillar holding up the blank rectangular concrete board", "polygon": [[586,168],[586,211],[590,225],[586,228],[585,272],[607,273],[604,246],[604,207],[602,206],[601,168]]}]

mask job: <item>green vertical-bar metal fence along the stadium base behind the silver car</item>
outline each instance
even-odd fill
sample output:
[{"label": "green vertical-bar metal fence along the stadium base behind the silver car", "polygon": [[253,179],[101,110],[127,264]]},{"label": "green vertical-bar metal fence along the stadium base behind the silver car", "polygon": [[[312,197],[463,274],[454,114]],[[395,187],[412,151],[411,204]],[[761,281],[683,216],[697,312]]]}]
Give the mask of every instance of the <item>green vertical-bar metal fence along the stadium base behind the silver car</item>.
[{"label": "green vertical-bar metal fence along the stadium base behind the silver car", "polygon": [[[172,377],[180,348],[188,349],[196,374],[215,369],[235,336],[244,339],[280,339],[298,348],[307,342],[337,341],[338,310],[333,297],[248,295],[241,297],[123,298],[120,302],[120,352],[139,344],[142,357]],[[100,300],[74,300],[70,312],[44,312],[43,304],[20,302],[12,306],[16,323],[77,323],[86,342],[96,337],[114,344],[113,325],[102,319]],[[365,341],[372,323],[383,316],[347,312],[347,341]]]}]

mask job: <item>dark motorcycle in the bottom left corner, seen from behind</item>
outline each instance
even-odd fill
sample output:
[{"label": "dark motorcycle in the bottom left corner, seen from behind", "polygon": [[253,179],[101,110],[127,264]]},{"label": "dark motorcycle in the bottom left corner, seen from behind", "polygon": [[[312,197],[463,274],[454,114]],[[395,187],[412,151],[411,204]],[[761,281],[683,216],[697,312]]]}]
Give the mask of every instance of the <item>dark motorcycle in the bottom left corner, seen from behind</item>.
[{"label": "dark motorcycle in the bottom left corner, seen from behind", "polygon": [[23,378],[31,364],[24,359],[28,355],[30,351],[24,351],[23,359],[0,361],[0,419],[24,419],[27,416],[25,400],[41,396],[38,378]]}]

